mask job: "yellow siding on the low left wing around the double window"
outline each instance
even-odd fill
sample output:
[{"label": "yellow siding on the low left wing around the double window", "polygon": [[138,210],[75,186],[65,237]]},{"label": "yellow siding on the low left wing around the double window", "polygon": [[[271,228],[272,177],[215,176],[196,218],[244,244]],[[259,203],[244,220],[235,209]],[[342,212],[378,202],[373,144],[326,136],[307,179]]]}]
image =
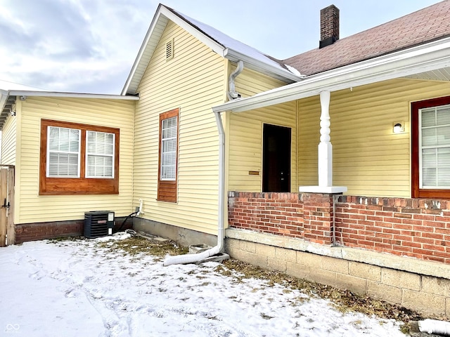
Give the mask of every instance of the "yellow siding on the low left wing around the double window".
[{"label": "yellow siding on the low left wing around the double window", "polygon": [[[15,223],[75,220],[84,211],[132,211],[134,101],[83,98],[32,98],[21,102],[21,143],[18,145]],[[120,128],[120,194],[39,196],[39,134],[41,119]]]}]

